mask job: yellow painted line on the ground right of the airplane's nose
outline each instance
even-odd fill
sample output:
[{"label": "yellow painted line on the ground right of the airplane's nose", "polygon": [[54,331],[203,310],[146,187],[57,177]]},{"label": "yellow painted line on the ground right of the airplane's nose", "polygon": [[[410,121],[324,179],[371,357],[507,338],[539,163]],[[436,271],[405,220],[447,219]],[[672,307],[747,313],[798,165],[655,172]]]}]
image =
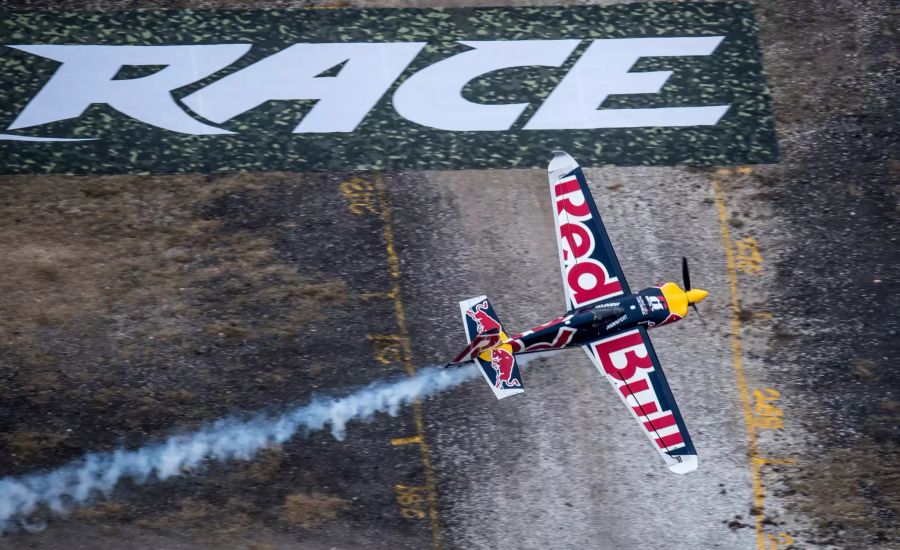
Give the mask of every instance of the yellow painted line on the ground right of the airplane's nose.
[{"label": "yellow painted line on the ground right of the airplane's nose", "polygon": [[738,393],[741,397],[741,410],[744,413],[744,422],[747,424],[748,454],[750,456],[750,479],[753,485],[753,508],[756,512],[756,546],[759,550],[766,550],[766,539],[763,536],[763,504],[766,493],[762,486],[761,468],[756,429],[753,422],[753,412],[750,406],[750,390],[747,386],[747,377],[744,374],[744,363],[741,356],[741,302],[738,293],[737,263],[735,262],[734,247],[731,241],[731,231],[728,228],[728,209],[725,207],[725,195],[722,192],[722,184],[718,176],[728,173],[722,169],[716,171],[716,177],[712,178],[712,186],[716,193],[716,206],[719,209],[719,227],[722,231],[722,245],[725,248],[725,263],[728,266],[728,288],[731,293],[731,355],[734,362],[734,374],[737,379]]}]

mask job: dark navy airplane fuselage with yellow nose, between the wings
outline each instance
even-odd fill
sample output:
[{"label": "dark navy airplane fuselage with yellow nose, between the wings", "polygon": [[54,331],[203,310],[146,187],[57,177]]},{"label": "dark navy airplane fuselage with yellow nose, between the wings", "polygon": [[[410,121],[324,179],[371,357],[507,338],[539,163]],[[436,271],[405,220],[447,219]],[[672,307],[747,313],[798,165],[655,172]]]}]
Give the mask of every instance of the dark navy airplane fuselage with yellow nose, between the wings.
[{"label": "dark navy airplane fuselage with yellow nose, between the wings", "polygon": [[[702,292],[702,296],[689,293]],[[636,294],[616,296],[557,317],[505,340],[513,353],[533,353],[596,340],[632,330],[674,323],[687,315],[690,302],[700,301],[706,291],[685,292],[675,283],[645,288]]]}]

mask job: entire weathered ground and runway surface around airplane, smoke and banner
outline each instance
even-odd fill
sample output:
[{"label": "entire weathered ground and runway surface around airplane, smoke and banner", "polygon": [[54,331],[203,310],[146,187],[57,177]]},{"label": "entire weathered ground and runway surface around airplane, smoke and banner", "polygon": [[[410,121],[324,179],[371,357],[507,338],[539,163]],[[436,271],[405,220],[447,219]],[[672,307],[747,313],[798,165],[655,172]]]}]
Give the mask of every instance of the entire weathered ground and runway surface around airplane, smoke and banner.
[{"label": "entire weathered ground and runway surface around airplane, smoke and banner", "polygon": [[[524,395],[497,402],[473,381],[426,402],[428,466],[391,443],[416,434],[408,409],[345,441],[126,483],[0,548],[898,547],[896,7],[754,4],[778,165],[586,169],[633,288],[677,281],[684,255],[710,291],[702,321],[651,332],[697,472],[668,472],[569,350],[526,365]],[[382,180],[372,210],[349,208],[355,177]],[[4,274],[2,473],[405,376],[464,345],[456,302],[471,296],[513,331],[564,309],[542,170],[3,187],[4,254],[22,267]],[[98,224],[104,209],[115,219]],[[122,236],[135,222],[145,232]],[[406,361],[377,339],[402,333],[397,302],[365,294],[391,288],[392,255]],[[22,305],[41,297],[53,305]],[[433,510],[401,502],[409,488]]]}]

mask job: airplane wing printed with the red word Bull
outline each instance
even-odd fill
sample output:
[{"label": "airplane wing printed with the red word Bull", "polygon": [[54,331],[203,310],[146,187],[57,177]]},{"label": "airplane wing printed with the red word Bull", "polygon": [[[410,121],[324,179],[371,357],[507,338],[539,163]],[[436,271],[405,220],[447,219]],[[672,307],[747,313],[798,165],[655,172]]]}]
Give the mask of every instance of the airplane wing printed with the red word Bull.
[{"label": "airplane wing printed with the red word Bull", "polygon": [[697,469],[697,451],[675,404],[647,329],[616,334],[582,346],[650,438],[670,470]]}]

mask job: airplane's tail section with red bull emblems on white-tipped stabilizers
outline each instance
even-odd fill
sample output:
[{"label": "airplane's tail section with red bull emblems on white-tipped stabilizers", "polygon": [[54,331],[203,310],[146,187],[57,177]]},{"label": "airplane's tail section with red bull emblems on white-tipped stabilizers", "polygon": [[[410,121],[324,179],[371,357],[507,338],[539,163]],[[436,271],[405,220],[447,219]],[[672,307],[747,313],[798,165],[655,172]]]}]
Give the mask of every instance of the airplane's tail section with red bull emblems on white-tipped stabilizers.
[{"label": "airplane's tail section with red bull emblems on white-tipped stabilizers", "polygon": [[460,361],[466,357],[475,361],[497,399],[525,391],[512,348],[501,343],[508,336],[487,297],[463,300],[459,309],[469,341],[469,346],[457,356]]}]

